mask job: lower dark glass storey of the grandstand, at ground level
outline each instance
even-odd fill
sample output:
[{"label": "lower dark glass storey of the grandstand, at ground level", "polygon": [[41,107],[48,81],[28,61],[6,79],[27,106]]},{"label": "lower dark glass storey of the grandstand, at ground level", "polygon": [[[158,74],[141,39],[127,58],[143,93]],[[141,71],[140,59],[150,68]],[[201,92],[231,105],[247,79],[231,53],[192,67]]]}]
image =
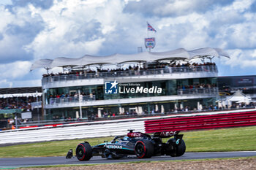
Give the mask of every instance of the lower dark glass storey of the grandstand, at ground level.
[{"label": "lower dark glass storey of the grandstand, at ground level", "polygon": [[[138,107],[141,107],[142,114],[156,114],[162,112],[174,112],[176,108],[183,110],[189,109],[189,111],[197,110],[198,102],[204,106],[203,109],[212,109],[210,107],[214,106],[216,98],[197,98],[189,100],[174,100],[174,101],[157,101],[157,102],[141,102],[135,104],[111,104],[105,106],[92,106],[92,107],[82,107],[82,117],[97,117],[99,110],[104,117],[105,114],[108,115],[131,115],[136,112]],[[137,108],[136,108],[137,107]],[[120,113],[120,108],[124,110]],[[79,107],[61,108],[61,109],[46,109],[46,119],[67,119],[68,117],[74,119],[79,114]]]}]

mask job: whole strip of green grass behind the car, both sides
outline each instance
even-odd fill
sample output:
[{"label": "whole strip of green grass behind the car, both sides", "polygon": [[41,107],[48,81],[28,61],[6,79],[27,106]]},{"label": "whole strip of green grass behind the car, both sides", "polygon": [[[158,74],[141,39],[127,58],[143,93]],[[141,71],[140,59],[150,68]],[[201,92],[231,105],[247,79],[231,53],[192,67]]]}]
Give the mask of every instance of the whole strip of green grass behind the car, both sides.
[{"label": "whole strip of green grass behind the car, both sides", "polygon": [[[184,141],[187,145],[186,152],[256,150],[256,126],[191,131],[181,134],[184,134]],[[0,147],[0,158],[64,156],[69,149],[75,150],[77,144],[85,140],[91,145],[95,145],[104,140],[110,141],[112,138],[75,139]],[[167,139],[164,139],[164,142],[166,141]]]}]

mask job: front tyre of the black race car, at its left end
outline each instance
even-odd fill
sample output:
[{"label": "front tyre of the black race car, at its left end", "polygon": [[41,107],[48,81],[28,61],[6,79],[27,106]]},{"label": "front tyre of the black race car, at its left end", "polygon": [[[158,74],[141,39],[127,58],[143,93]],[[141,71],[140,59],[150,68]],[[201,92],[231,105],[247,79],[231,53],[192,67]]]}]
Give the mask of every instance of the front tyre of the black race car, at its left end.
[{"label": "front tyre of the black race car, at its left end", "polygon": [[91,145],[89,143],[78,144],[75,154],[79,161],[89,161],[92,157]]}]

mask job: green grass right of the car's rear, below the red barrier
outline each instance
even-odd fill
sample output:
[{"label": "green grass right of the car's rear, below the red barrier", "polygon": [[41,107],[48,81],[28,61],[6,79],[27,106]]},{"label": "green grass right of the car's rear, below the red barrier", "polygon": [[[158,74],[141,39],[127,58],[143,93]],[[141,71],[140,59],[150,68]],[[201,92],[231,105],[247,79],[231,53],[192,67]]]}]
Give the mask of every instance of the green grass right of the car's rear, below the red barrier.
[{"label": "green grass right of the car's rear, below the red barrier", "polygon": [[256,150],[256,126],[184,133],[187,152]]}]

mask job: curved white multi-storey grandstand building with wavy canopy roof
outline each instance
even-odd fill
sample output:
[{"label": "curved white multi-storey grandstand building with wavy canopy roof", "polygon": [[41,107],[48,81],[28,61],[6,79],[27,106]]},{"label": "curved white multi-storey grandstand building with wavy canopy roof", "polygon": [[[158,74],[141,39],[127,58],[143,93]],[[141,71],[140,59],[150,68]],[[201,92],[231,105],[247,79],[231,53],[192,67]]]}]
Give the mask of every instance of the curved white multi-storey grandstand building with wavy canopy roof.
[{"label": "curved white multi-storey grandstand building with wavy canopy roof", "polygon": [[[133,55],[85,55],[36,61],[31,70],[62,67],[42,77],[45,119],[154,114],[215,105],[221,49],[177,49]],[[197,63],[196,61],[203,61]]]}]

